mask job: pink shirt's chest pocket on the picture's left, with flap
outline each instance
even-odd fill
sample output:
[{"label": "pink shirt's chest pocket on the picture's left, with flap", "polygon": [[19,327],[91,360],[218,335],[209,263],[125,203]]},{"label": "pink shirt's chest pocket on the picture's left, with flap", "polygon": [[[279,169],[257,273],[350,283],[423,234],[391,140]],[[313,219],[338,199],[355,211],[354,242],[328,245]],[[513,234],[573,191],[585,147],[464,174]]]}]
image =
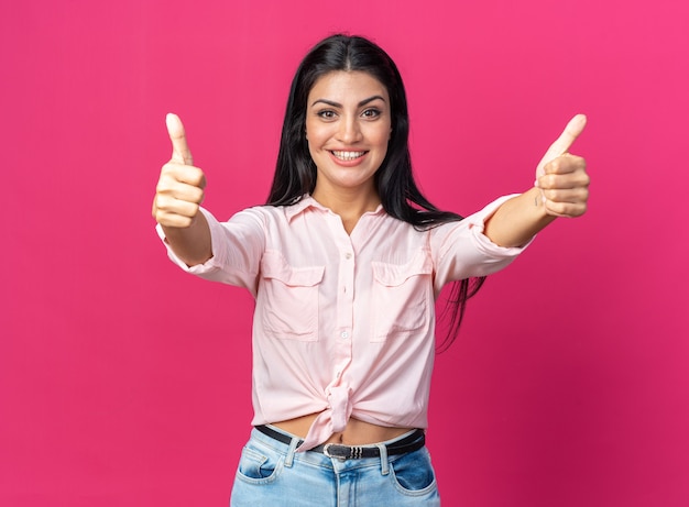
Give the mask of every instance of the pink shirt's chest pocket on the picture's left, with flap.
[{"label": "pink shirt's chest pocket on the picture's left, with flap", "polygon": [[264,253],[259,302],[267,335],[282,340],[318,340],[318,293],[324,272],[325,266],[294,267],[280,252]]}]

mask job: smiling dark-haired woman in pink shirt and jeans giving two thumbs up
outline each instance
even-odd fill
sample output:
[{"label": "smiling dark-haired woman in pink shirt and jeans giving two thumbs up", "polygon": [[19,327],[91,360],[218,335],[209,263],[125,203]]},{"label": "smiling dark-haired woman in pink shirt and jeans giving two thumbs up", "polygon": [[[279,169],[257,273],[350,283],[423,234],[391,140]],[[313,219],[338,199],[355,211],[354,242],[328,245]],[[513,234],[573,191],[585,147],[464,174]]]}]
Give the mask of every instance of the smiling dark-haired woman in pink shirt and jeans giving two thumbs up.
[{"label": "smiling dark-haired woman in pink shirt and jeans giving two thumbs up", "polygon": [[550,146],[533,188],[462,219],[414,181],[393,60],[333,35],[297,69],[267,203],[219,222],[167,117],[153,216],[168,254],[256,301],[254,429],[231,505],[439,505],[424,447],[435,299],[455,285],[458,326],[483,277],[556,217],[586,211],[586,163],[568,153],[584,122]]}]

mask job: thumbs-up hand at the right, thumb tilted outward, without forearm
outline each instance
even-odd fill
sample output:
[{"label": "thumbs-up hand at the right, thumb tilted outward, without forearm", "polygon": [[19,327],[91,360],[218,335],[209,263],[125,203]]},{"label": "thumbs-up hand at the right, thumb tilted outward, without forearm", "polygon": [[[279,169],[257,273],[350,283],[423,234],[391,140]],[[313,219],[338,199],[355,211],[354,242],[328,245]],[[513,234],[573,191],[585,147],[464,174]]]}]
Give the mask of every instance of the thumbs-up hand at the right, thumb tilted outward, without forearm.
[{"label": "thumbs-up hand at the right, thumb tilted outward, without forearm", "polygon": [[553,217],[579,217],[587,211],[590,178],[586,161],[569,148],[586,126],[587,118],[577,114],[550,145],[536,167],[536,188],[546,213]]}]

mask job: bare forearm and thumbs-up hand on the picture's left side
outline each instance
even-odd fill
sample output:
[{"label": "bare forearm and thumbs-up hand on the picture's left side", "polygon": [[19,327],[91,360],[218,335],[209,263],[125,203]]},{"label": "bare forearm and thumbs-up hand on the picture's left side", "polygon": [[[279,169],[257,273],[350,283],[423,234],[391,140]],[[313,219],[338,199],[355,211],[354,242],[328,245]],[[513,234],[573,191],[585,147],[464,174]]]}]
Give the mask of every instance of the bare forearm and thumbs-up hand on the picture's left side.
[{"label": "bare forearm and thumbs-up hand on the picture's left side", "polygon": [[188,266],[194,266],[212,257],[210,229],[199,211],[206,176],[194,167],[179,118],[168,114],[166,123],[173,154],[161,169],[152,214],[163,228],[173,252]]}]

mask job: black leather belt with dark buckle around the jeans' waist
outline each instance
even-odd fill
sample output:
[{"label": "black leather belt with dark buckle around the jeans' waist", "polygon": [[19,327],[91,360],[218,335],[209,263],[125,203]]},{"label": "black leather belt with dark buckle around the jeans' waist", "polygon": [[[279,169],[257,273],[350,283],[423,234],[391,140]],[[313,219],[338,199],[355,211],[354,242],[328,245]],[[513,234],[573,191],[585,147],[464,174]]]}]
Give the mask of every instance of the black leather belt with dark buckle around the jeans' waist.
[{"label": "black leather belt with dark buckle around the jeans' waist", "polygon": [[[256,426],[256,430],[261,433],[277,440],[278,442],[291,444],[292,438],[280,431],[275,431],[267,426]],[[299,445],[304,442],[299,440]],[[426,444],[426,433],[424,430],[416,430],[408,437],[397,440],[393,443],[385,445],[387,455],[404,454],[407,452],[418,451]],[[340,445],[339,443],[326,443],[317,445],[314,449],[309,449],[313,452],[320,452],[328,458],[339,458],[340,460],[356,460],[359,458],[379,458],[381,450],[378,445]]]}]

